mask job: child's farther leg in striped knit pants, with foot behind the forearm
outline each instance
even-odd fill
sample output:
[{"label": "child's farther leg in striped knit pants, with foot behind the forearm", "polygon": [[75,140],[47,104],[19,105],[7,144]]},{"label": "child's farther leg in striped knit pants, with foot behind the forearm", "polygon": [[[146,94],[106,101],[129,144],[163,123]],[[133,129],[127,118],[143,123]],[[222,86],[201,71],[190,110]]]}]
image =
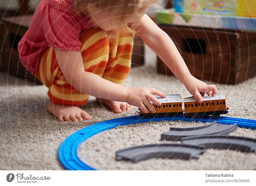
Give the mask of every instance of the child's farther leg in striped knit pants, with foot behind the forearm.
[{"label": "child's farther leg in striped knit pants, with foot behind the forearm", "polygon": [[[119,33],[109,43],[109,60],[102,78],[124,85],[131,69],[133,33]],[[107,105],[116,113],[130,110],[131,105],[126,102],[117,102],[107,99],[99,99],[100,103]]]}]

